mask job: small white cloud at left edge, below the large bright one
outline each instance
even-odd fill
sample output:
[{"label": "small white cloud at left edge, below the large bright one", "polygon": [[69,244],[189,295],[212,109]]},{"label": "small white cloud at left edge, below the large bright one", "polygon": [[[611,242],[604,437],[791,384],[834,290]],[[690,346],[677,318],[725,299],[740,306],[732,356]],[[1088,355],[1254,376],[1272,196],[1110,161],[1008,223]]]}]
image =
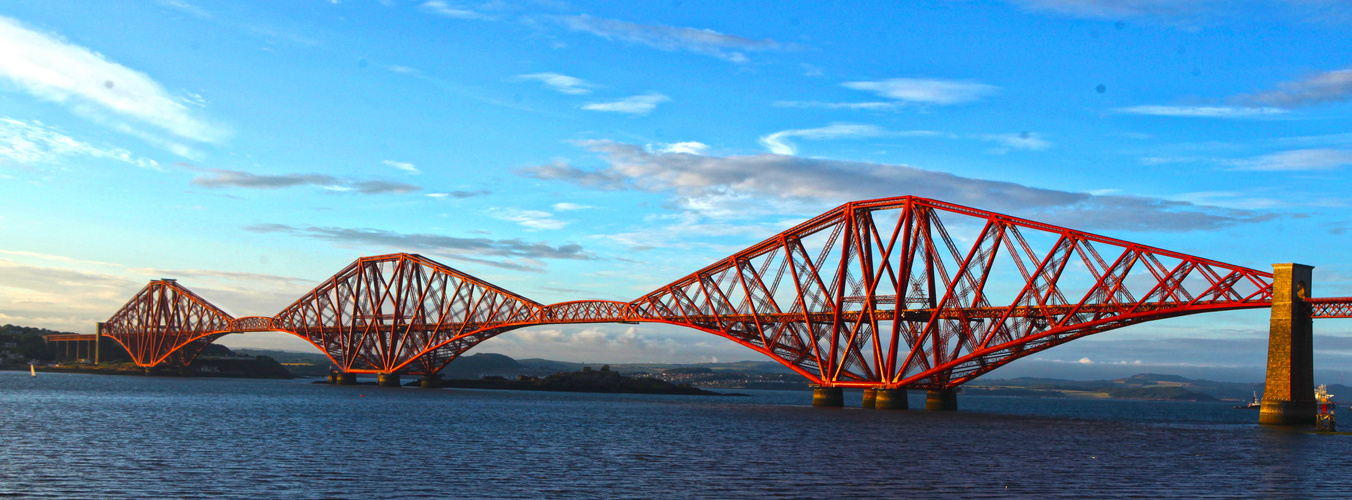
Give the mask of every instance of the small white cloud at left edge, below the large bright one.
[{"label": "small white cloud at left edge, below the large bright one", "polygon": [[59,165],[70,158],[107,158],[146,169],[160,169],[154,159],[119,147],[99,147],[77,141],[41,122],[0,118],[0,164],[19,166]]}]

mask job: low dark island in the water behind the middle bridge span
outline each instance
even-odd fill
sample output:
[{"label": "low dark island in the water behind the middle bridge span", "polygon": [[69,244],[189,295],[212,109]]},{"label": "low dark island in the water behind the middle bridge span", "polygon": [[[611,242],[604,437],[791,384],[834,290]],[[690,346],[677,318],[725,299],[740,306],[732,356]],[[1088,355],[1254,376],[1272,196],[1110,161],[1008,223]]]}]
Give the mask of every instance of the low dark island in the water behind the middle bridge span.
[{"label": "low dark island in the water behind the middle bridge span", "polygon": [[630,395],[688,395],[688,396],[745,396],[704,391],[690,384],[672,384],[652,377],[625,377],[610,365],[599,370],[583,366],[581,372],[554,373],[548,377],[521,376],[508,380],[488,376],[479,380],[443,380],[442,386],[458,389],[552,391],[552,392],[606,392]]}]

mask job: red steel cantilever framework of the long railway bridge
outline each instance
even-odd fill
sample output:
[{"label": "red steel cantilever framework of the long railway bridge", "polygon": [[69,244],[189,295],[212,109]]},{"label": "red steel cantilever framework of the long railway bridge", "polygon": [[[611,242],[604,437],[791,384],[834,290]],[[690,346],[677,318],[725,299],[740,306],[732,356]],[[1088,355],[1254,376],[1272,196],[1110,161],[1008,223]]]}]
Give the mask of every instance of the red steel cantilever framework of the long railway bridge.
[{"label": "red steel cantilever framework of the long railway bridge", "polygon": [[[347,373],[435,374],[515,328],[667,323],[826,386],[946,389],[1086,335],[1271,300],[1267,272],[904,196],[844,204],[629,303],[545,305],[389,254],[358,258],[273,318],[237,319],[151,281],[104,334],[142,366],[191,362],[231,332],[285,331]],[[1315,318],[1352,318],[1352,297],[1307,303]]]}]

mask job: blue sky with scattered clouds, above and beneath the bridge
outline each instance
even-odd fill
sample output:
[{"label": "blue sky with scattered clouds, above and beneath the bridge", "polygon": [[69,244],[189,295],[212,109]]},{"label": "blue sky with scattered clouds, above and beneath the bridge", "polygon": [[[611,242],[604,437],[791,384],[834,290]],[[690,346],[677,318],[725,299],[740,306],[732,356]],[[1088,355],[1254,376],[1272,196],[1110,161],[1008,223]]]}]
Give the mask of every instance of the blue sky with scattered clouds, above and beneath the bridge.
[{"label": "blue sky with scattered clouds, above and beneath the bridge", "polygon": [[[631,300],[899,195],[1349,296],[1349,34],[1333,0],[0,1],[0,323],[88,332],[158,277],[272,315],[392,251]],[[1148,323],[1006,370],[1249,369],[1265,327]],[[1317,324],[1322,369],[1349,330]],[[480,349],[756,355],[619,324]]]}]

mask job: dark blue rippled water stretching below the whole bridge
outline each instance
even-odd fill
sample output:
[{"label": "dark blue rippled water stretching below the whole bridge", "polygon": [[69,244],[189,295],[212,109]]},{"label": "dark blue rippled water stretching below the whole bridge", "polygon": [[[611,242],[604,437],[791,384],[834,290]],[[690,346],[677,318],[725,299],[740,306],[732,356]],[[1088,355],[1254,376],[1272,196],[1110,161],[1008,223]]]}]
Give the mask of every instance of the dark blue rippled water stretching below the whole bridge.
[{"label": "dark blue rippled water stretching below the whole bridge", "polygon": [[972,396],[937,414],[745,392],[0,372],[0,496],[1352,496],[1352,435],[1228,404]]}]

